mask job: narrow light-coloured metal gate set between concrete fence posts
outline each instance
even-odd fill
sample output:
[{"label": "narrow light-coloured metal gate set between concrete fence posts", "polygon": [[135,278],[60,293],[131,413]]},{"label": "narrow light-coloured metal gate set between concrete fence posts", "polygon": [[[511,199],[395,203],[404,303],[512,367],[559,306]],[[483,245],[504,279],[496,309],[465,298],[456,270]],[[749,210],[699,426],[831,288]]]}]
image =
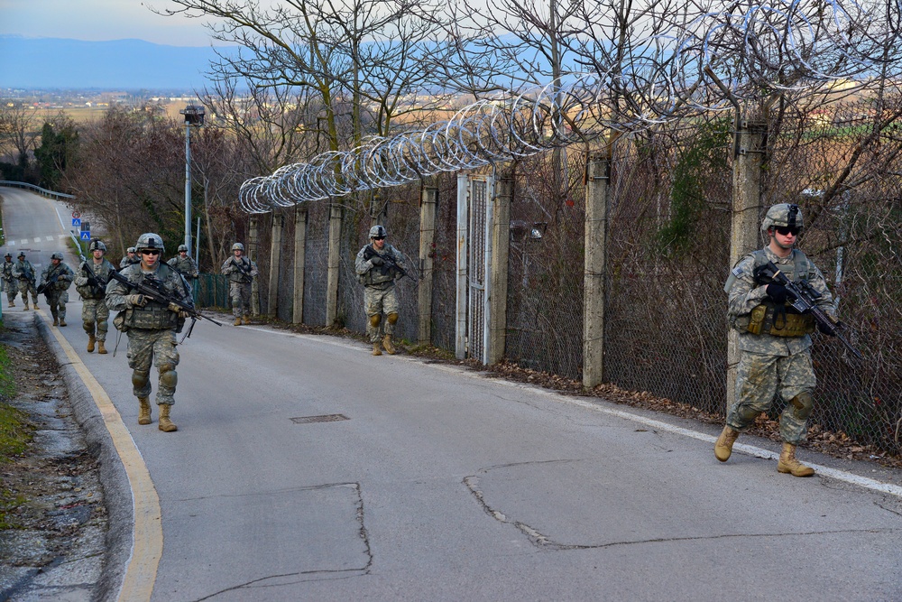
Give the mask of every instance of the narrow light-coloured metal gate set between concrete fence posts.
[{"label": "narrow light-coloured metal gate set between concrete fence posts", "polygon": [[492,257],[492,198],[489,175],[457,176],[456,357],[488,357],[489,288]]}]

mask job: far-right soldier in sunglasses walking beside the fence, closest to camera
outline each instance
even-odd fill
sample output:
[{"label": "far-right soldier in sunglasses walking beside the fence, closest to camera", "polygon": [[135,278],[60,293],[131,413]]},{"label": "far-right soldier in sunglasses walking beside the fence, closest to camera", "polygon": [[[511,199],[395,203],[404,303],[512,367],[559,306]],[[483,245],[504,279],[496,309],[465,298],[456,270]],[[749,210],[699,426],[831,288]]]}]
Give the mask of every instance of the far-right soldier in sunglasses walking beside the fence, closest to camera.
[{"label": "far-right soldier in sunglasses walking beside the fence, closest to camera", "polygon": [[773,262],[793,282],[807,281],[820,293],[817,304],[833,316],[833,297],[824,275],[796,248],[802,231],[802,213],[797,205],[782,203],[769,208],[761,231],[770,243],[741,258],[733,268],[725,290],[730,295],[727,314],[739,330],[741,358],[736,368],[736,401],[727,412],[726,426],[714,444],[714,455],[722,462],[732,453],[733,443],[761,412],[767,412],[774,395],[787,402],[780,415],[783,450],[777,464],[781,473],[811,477],[814,468],[796,459],[796,445],[805,440],[808,416],[814,407],[815,371],[811,363],[811,337],[815,319],[800,314],[787,303],[787,288],[767,282],[759,275]]}]

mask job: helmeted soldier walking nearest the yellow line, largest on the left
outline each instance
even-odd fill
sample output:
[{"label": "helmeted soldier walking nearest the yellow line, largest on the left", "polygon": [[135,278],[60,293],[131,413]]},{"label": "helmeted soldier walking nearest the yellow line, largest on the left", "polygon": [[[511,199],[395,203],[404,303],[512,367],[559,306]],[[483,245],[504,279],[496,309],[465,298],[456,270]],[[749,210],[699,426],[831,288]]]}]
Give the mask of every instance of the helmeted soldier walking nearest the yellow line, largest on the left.
[{"label": "helmeted soldier walking nearest the yellow line, largest on the left", "polygon": [[[143,234],[138,237],[135,249],[141,257],[140,262],[124,267],[122,275],[129,282],[140,283],[149,279],[160,282],[167,294],[193,307],[188,282],[160,261],[164,250],[162,238],[151,232]],[[128,366],[132,368],[132,390],[139,403],[138,424],[151,423],[150,375],[153,364],[159,373],[156,397],[160,407],[158,427],[164,432],[178,431],[170,419],[179,381],[175,371],[179,365],[175,335],[184,325],[187,314],[174,303],[167,304],[135,292],[117,280],[110,280],[106,285],[106,307],[119,312],[113,323],[128,336]]]}]

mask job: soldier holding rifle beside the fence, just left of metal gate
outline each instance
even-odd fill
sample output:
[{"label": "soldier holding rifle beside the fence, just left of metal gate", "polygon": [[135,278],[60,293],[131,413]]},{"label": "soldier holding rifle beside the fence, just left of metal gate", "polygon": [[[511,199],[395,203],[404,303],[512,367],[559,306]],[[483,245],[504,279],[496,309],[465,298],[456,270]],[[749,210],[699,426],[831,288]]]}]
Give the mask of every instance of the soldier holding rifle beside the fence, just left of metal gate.
[{"label": "soldier holding rifle beside the fence, just left of metal gate", "polygon": [[[370,244],[357,253],[354,271],[364,284],[364,310],[368,318],[366,332],[373,343],[373,356],[381,356],[382,347],[390,355],[396,352],[391,334],[398,321],[398,293],[394,281],[404,275],[404,255],[385,242],[385,228],[370,228]],[[385,314],[384,327],[382,314]],[[384,335],[381,334],[384,328]]]}]

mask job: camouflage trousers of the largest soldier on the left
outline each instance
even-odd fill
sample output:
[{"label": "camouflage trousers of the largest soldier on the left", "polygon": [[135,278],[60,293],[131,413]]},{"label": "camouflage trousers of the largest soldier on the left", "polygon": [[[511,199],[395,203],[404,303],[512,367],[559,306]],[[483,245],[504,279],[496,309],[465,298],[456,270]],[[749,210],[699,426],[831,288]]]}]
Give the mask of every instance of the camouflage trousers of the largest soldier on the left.
[{"label": "camouflage trousers of the largest soldier on the left", "polygon": [[175,347],[175,330],[131,329],[128,336],[128,367],[132,368],[132,392],[135,397],[151,395],[151,363],[157,366],[157,404],[175,403],[175,386],[179,375],[179,352]]}]

